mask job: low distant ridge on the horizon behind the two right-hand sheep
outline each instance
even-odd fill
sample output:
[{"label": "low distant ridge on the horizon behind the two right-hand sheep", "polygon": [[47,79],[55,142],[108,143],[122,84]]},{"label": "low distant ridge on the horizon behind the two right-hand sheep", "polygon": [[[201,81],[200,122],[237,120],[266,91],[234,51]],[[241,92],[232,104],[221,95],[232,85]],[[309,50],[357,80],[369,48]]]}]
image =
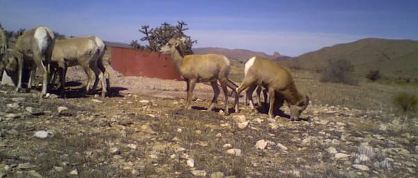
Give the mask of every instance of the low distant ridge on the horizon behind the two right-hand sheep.
[{"label": "low distant ridge on the horizon behind the two right-hand sheep", "polygon": [[193,48],[194,54],[222,54],[230,59],[236,59],[240,61],[247,61],[253,56],[262,56],[265,58],[276,59],[276,58],[290,58],[288,56],[281,56],[279,53],[274,52],[273,55],[265,54],[264,52],[250,51],[247,49],[226,49],[219,47],[201,47]]}]

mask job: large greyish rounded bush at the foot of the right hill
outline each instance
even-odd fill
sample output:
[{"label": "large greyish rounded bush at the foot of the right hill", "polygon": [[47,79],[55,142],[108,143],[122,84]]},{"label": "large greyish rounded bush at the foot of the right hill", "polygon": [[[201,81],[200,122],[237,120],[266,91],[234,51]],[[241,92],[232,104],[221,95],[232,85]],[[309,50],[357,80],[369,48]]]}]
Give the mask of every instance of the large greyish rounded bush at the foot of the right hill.
[{"label": "large greyish rounded bush at the foot of the right hill", "polygon": [[358,81],[353,78],[353,72],[354,65],[349,60],[330,61],[328,67],[323,70],[320,81],[357,85]]}]

